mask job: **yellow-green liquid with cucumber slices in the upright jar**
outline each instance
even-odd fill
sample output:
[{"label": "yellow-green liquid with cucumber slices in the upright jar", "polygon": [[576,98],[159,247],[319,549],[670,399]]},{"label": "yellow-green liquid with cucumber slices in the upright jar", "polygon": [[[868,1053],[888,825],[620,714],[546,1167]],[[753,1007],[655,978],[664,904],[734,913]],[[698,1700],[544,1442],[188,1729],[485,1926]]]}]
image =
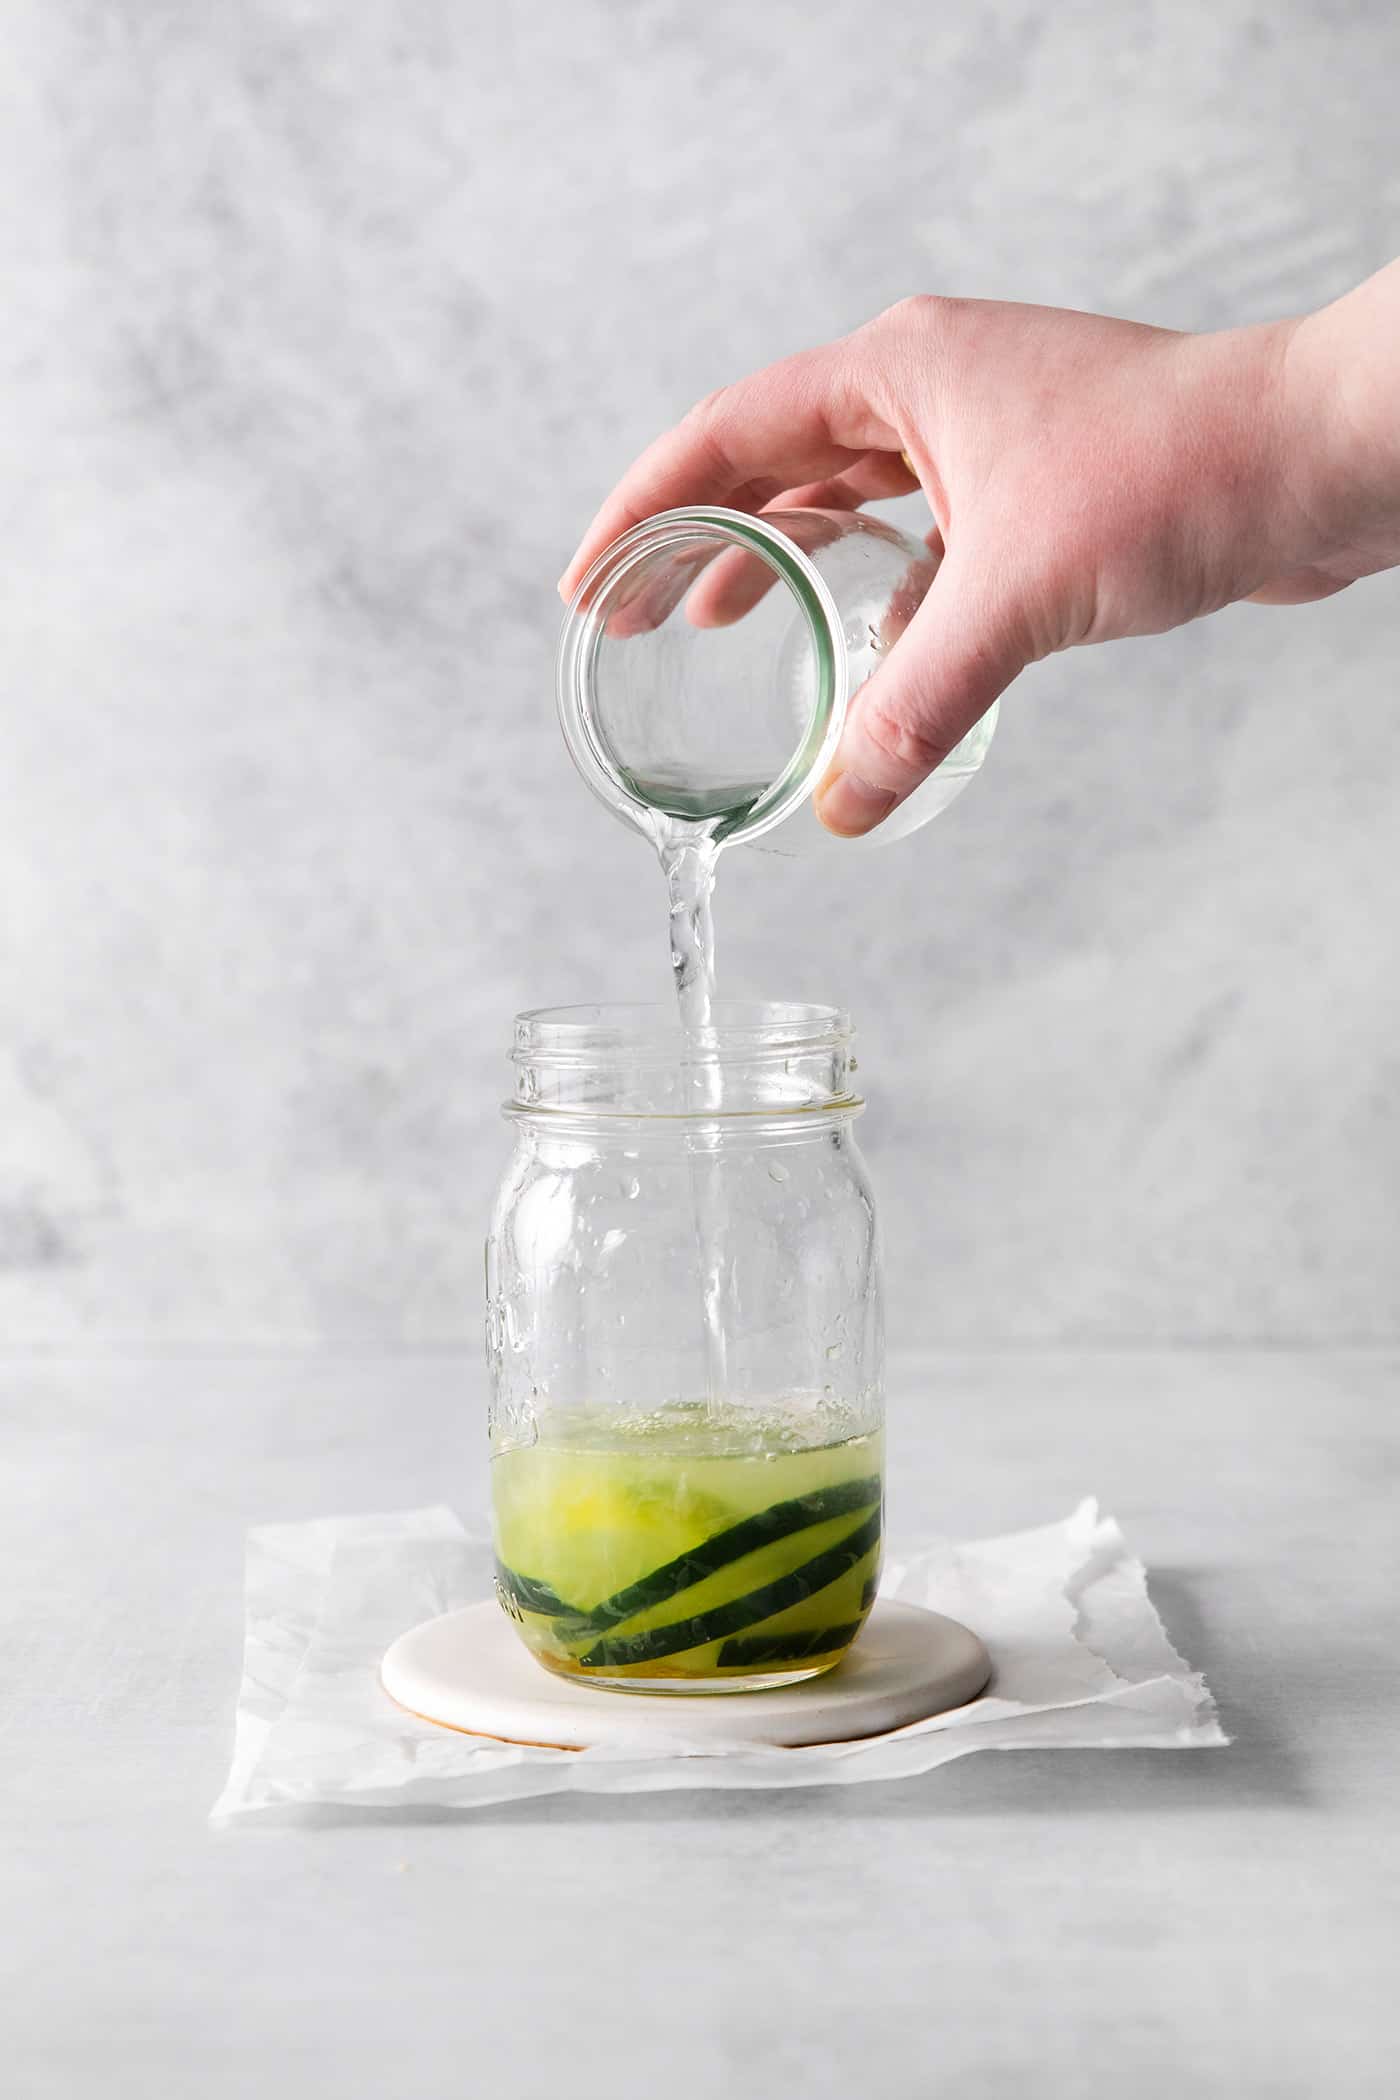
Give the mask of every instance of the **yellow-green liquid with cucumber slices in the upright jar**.
[{"label": "yellow-green liquid with cucumber slices in the upright jar", "polygon": [[804,1403],[546,1413],[491,1462],[497,1594],[527,1646],[636,1690],[829,1670],[879,1577],[882,1434],[840,1428]]}]

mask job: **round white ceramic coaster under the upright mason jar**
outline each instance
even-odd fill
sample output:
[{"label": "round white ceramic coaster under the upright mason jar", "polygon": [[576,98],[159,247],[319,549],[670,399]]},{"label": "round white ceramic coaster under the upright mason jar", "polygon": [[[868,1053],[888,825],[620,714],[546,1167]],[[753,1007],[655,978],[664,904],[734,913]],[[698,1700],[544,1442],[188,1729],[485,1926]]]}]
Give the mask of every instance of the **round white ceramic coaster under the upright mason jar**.
[{"label": "round white ceramic coaster under the upright mason jar", "polygon": [[604,1693],[554,1678],[491,1598],[401,1634],[384,1690],[422,1720],[508,1743],[590,1749],[653,1735],[691,1743],[850,1743],[966,1705],[987,1688],[976,1634],[936,1611],[875,1600],[850,1655],[766,1693]]}]

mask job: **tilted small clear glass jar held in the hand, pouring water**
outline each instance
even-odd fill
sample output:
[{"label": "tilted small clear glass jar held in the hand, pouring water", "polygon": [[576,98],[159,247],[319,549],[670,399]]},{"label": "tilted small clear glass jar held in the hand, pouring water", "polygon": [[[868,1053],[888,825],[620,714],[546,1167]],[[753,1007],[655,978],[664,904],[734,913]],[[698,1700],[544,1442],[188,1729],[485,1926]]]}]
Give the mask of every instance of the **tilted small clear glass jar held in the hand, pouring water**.
[{"label": "tilted small clear glass jar held in the hand, pouring water", "polygon": [[850,510],[663,510],[615,540],[565,617],[558,710],[594,794],[623,821],[714,819],[772,853],[905,838],[961,794],[997,710],[869,840],[833,840],[812,788],[852,695],[924,603],[938,559]]}]

